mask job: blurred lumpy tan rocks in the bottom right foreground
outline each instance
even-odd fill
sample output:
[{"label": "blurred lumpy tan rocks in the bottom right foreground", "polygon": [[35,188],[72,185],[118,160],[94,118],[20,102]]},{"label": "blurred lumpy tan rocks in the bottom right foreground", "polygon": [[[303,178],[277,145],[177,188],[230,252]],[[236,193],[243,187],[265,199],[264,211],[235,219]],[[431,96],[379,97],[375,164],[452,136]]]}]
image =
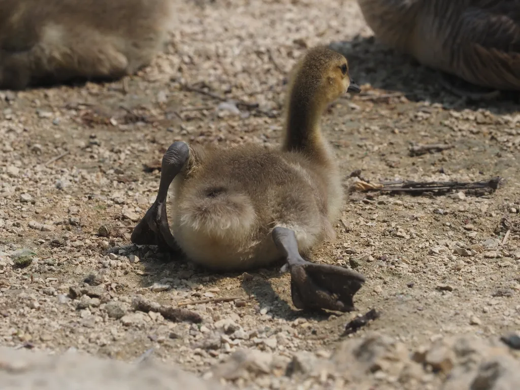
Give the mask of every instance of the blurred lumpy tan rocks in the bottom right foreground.
[{"label": "blurred lumpy tan rocks in the bottom right foreground", "polygon": [[[321,356],[320,356],[321,355]],[[408,349],[391,337],[371,334],[344,341],[330,358],[298,352],[282,367],[283,356],[239,350],[206,378],[239,387],[349,388],[352,390],[516,390],[520,388],[520,353],[498,337],[446,337]]]}]

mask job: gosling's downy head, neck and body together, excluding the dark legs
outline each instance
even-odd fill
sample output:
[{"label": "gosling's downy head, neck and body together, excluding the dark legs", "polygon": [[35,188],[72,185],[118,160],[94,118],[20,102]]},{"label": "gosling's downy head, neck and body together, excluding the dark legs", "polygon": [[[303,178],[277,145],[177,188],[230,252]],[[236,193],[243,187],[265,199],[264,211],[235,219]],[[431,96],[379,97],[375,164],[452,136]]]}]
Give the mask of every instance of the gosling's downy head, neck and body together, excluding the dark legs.
[{"label": "gosling's downy head, neck and body together, excluding the dark legs", "polygon": [[277,226],[294,230],[301,253],[334,237],[343,191],[319,122],[349,88],[359,90],[346,59],[314,48],[294,71],[281,148],[190,148],[173,181],[168,218],[192,261],[214,269],[267,265],[281,257],[271,237]]}]

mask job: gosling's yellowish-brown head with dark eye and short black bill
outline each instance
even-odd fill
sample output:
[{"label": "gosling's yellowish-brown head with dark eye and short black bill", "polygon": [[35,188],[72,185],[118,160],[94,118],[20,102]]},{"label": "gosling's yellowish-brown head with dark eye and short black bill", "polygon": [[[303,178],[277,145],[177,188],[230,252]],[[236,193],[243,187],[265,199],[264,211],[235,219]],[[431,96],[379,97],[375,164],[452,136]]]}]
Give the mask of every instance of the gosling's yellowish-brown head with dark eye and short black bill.
[{"label": "gosling's yellowish-brown head with dark eye and short black bill", "polygon": [[327,106],[345,92],[361,92],[350,77],[347,59],[326,46],[310,49],[294,73],[292,98],[306,95]]}]

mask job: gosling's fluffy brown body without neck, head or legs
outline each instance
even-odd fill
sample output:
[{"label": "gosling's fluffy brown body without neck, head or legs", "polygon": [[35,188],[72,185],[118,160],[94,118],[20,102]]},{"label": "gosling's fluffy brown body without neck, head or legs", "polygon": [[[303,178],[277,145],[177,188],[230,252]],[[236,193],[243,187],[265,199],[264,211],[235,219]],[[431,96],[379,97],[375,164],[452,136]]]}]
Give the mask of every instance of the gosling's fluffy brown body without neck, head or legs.
[{"label": "gosling's fluffy brown body without neck, head or legs", "polygon": [[204,155],[203,165],[175,178],[168,212],[172,233],[192,261],[213,269],[268,265],[280,259],[270,235],[276,226],[294,230],[302,253],[334,237],[330,220],[342,199],[335,172],[262,146],[192,153]]}]

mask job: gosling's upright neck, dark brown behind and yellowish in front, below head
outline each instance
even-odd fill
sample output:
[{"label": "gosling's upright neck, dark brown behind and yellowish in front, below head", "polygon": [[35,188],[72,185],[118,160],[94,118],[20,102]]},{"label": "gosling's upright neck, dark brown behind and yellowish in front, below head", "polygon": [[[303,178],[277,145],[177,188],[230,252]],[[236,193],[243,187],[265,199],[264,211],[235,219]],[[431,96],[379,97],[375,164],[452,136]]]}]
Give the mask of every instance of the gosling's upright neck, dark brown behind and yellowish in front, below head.
[{"label": "gosling's upright neck, dark brown behind and yellowish in front, below head", "polygon": [[321,115],[326,105],[316,94],[299,85],[293,87],[287,105],[285,139],[282,150],[300,152],[311,159],[328,161],[326,141],[321,134]]}]

